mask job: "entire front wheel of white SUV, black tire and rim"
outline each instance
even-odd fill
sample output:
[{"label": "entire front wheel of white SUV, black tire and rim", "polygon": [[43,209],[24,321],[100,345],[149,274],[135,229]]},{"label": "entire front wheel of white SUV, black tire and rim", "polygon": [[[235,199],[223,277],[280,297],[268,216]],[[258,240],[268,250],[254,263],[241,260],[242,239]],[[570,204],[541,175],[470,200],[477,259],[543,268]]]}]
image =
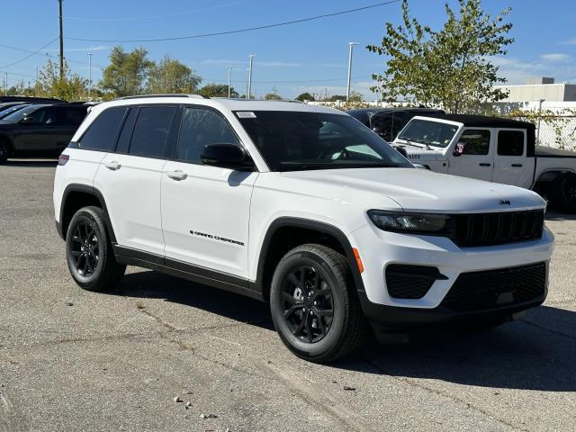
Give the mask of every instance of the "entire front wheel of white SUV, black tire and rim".
[{"label": "entire front wheel of white SUV, black tire and rim", "polygon": [[311,362],[347,356],[368,334],[346,258],[321,245],[294,247],[280,260],[270,310],[284,345]]}]

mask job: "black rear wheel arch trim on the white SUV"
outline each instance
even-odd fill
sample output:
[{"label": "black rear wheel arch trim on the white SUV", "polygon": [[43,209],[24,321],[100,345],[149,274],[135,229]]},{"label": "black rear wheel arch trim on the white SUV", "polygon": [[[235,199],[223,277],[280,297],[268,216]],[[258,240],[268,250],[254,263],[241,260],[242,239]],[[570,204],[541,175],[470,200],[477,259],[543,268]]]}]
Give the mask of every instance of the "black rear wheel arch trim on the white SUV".
[{"label": "black rear wheel arch trim on the white SUV", "polygon": [[87,205],[96,205],[104,212],[104,219],[112,244],[116,243],[116,236],[112,227],[112,221],[108,214],[106,201],[103,194],[94,186],[88,184],[68,184],[62,193],[60,205],[60,237],[66,238],[67,228],[74,213]]}]

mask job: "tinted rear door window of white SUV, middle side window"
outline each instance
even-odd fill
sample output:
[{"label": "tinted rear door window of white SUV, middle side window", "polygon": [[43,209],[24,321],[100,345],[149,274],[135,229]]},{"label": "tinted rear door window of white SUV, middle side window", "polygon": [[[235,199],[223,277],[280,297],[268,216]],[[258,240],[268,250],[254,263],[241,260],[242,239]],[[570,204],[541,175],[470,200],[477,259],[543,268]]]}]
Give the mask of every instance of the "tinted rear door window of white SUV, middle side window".
[{"label": "tinted rear door window of white SUV, middle side window", "polygon": [[145,106],[140,108],[128,153],[135,156],[164,157],[172,120],[173,106]]}]

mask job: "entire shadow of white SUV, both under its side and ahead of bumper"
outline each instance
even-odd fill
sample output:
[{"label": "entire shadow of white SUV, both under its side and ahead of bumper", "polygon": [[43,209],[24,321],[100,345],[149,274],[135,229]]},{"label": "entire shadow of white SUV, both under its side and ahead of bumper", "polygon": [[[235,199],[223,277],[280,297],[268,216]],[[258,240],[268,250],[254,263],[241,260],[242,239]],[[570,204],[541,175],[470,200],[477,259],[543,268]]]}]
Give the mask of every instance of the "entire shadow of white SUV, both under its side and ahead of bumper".
[{"label": "entire shadow of white SUV, both under its side and ahead of bumper", "polygon": [[[125,275],[111,294],[164,299],[275,331],[266,303],[153,271]],[[327,367],[480,387],[576,392],[575,339],[576,312],[541,306],[490,331],[430,330],[405,345],[382,345],[371,338],[359,353]]]}]

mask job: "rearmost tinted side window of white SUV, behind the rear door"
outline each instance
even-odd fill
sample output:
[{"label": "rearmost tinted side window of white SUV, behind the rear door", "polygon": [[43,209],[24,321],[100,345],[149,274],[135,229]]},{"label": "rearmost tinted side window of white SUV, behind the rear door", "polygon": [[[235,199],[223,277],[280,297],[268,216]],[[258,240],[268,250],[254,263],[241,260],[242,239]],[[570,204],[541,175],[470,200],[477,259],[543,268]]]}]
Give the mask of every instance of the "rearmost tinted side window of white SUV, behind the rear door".
[{"label": "rearmost tinted side window of white SUV, behind the rear door", "polygon": [[109,108],[88,127],[78,142],[85,150],[112,151],[127,108]]}]

